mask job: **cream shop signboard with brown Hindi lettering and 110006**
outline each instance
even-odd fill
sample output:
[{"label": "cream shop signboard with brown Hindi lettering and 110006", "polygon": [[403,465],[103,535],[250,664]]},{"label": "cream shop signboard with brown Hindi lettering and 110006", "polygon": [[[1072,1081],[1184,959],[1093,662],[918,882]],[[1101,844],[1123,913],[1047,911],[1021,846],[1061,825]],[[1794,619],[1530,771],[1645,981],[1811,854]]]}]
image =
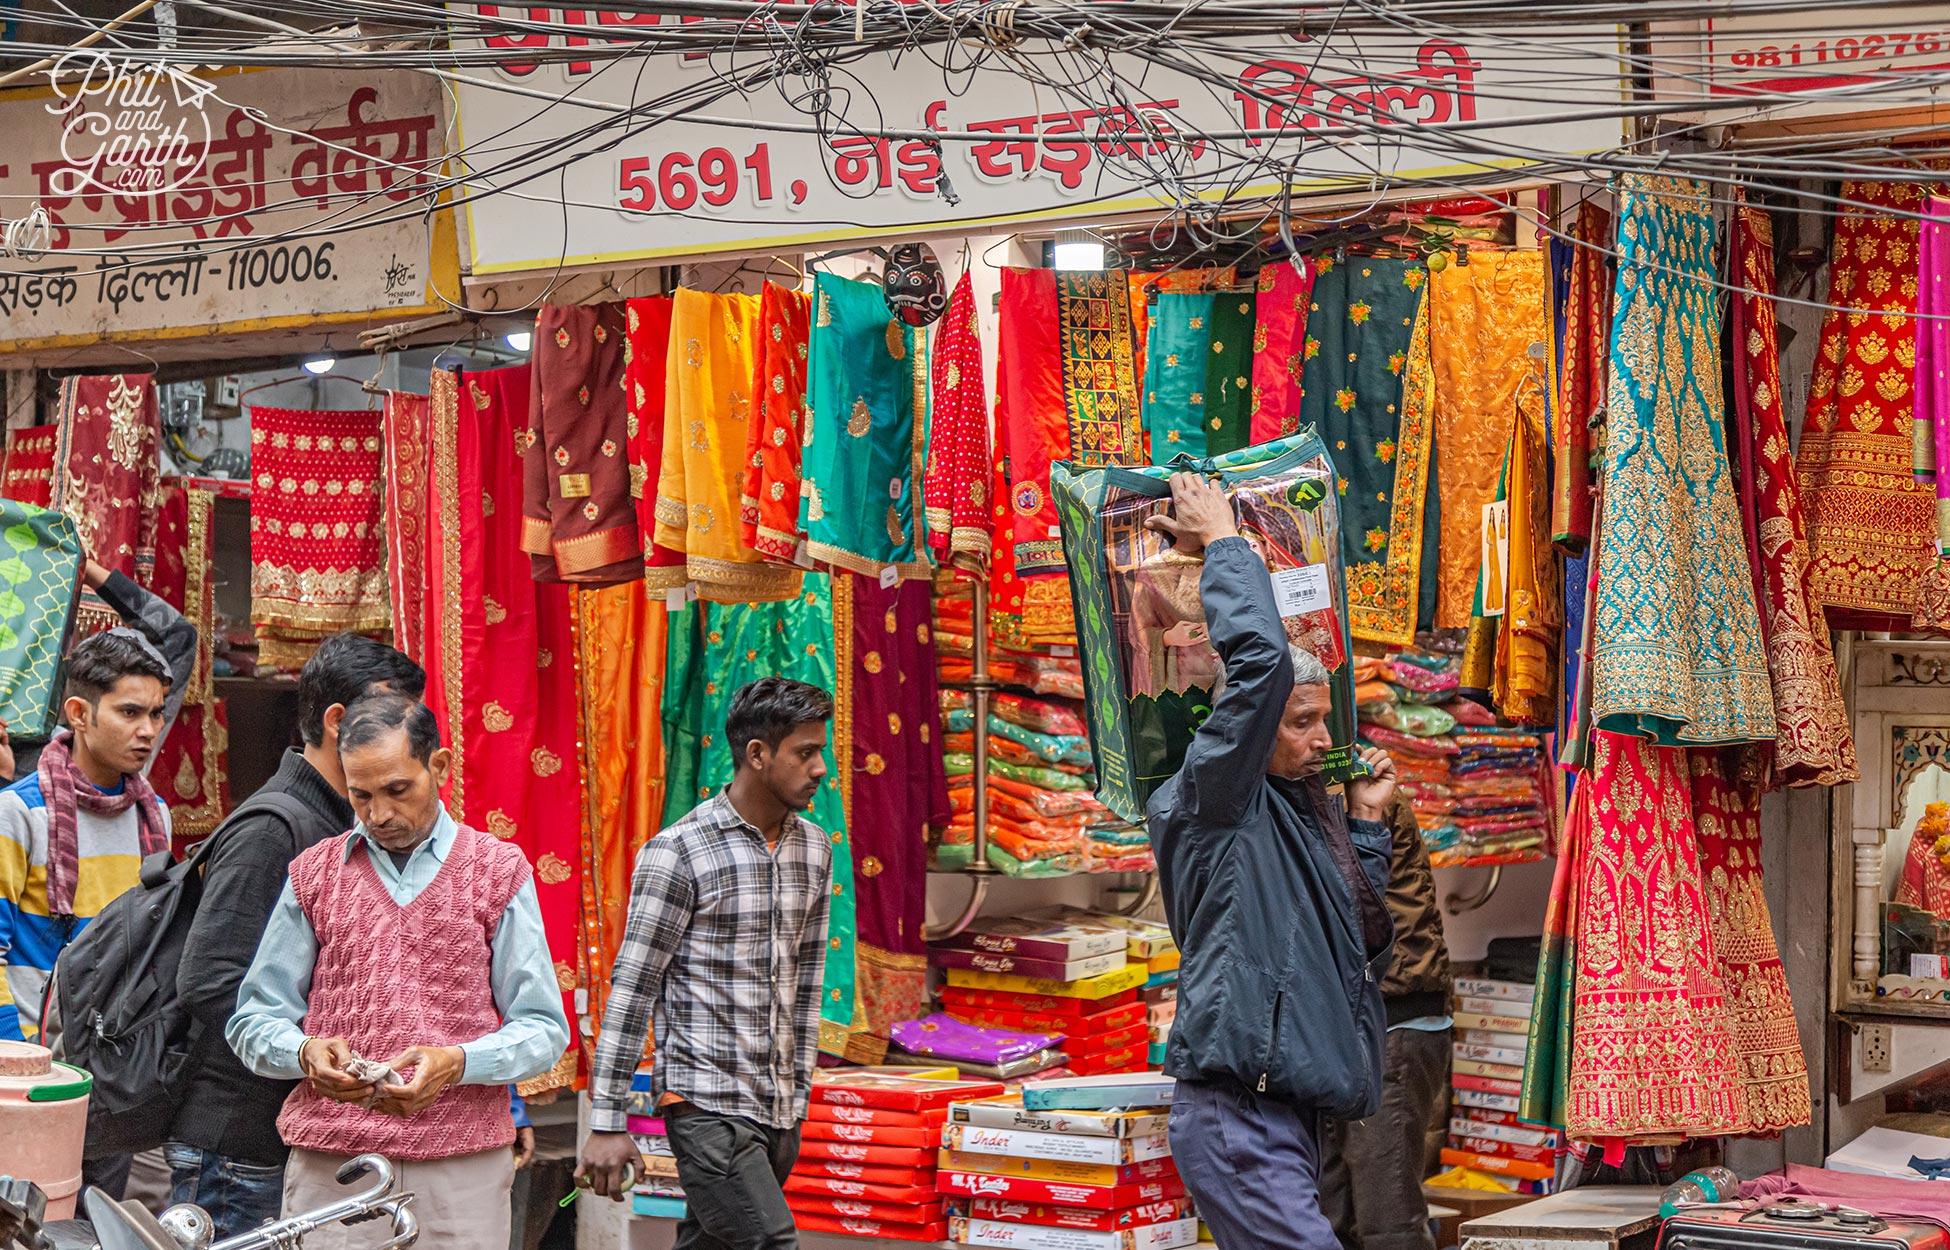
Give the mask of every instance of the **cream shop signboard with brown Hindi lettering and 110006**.
[{"label": "cream shop signboard with brown Hindi lettering and 110006", "polygon": [[[187,74],[76,53],[0,98],[0,351],[363,324],[439,308],[437,78]],[[39,207],[45,216],[27,215]]]}]

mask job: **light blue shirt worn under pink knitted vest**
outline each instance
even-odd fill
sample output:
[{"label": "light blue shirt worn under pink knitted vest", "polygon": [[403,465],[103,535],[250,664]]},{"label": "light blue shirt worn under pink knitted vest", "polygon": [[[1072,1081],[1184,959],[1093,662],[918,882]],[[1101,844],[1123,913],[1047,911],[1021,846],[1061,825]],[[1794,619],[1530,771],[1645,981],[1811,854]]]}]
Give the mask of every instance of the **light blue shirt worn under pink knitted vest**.
[{"label": "light blue shirt worn under pink knitted vest", "polygon": [[[447,862],[458,837],[452,817],[441,809],[433,835],[413,848],[406,868],[372,840],[365,825],[345,840],[349,860],[363,846],[372,870],[392,901],[406,907],[417,899]],[[542,907],[534,899],[534,879],[509,899],[489,942],[489,989],[501,1012],[501,1028],[460,1043],[466,1071],[460,1084],[513,1084],[556,1067],[569,1045],[569,1020],[562,1014],[562,989],[542,936]],[[224,1039],[244,1067],[275,1080],[298,1080],[298,1047],[304,1045],[304,1012],[312,996],[312,969],[318,963],[318,932],[285,881],[271,922],[263,928],[257,956],[238,991],[238,1010],[224,1026]],[[367,1055],[388,1059],[388,1055]]]}]

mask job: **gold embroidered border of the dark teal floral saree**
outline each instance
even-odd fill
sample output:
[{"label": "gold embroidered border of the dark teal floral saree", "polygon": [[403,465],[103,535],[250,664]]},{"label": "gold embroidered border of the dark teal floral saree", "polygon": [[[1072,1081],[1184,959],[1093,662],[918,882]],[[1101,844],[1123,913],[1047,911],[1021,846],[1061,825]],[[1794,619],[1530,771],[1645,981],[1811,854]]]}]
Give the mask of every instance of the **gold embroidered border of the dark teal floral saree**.
[{"label": "gold embroidered border of the dark teal floral saree", "polygon": [[1408,645],[1416,640],[1422,595],[1422,519],[1429,491],[1435,421],[1435,365],[1429,296],[1424,289],[1402,369],[1402,425],[1396,433],[1388,556],[1347,567],[1347,630],[1355,638]]}]

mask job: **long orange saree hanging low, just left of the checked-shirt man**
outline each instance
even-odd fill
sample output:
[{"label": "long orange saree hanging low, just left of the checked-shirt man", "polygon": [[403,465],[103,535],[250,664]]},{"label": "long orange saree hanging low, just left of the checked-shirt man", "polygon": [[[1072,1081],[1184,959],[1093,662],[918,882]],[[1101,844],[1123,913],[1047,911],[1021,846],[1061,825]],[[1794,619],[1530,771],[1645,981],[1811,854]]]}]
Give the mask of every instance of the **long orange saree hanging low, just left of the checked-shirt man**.
[{"label": "long orange saree hanging low, just left of the checked-shirt man", "polygon": [[[583,743],[581,942],[593,1057],[630,913],[636,852],[663,821],[663,675],[671,612],[644,583],[575,593],[577,741]],[[645,1037],[645,1051],[653,1045]]]}]

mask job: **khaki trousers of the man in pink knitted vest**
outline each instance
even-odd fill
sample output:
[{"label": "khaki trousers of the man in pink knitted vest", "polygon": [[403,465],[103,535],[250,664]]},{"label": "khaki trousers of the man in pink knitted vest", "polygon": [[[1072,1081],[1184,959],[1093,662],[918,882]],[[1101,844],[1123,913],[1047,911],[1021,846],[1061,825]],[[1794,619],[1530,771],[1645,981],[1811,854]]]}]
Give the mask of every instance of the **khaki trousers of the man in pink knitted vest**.
[{"label": "khaki trousers of the man in pink knitted vest", "polygon": [[[316,1211],[370,1184],[337,1182],[349,1154],[292,1151],[285,1164],[285,1217]],[[413,1195],[419,1221],[415,1250],[503,1250],[513,1219],[515,1151],[497,1149],[454,1158],[394,1160],[398,1190]],[[306,1250],[367,1250],[392,1236],[392,1223],[332,1225],[304,1238]]]}]

